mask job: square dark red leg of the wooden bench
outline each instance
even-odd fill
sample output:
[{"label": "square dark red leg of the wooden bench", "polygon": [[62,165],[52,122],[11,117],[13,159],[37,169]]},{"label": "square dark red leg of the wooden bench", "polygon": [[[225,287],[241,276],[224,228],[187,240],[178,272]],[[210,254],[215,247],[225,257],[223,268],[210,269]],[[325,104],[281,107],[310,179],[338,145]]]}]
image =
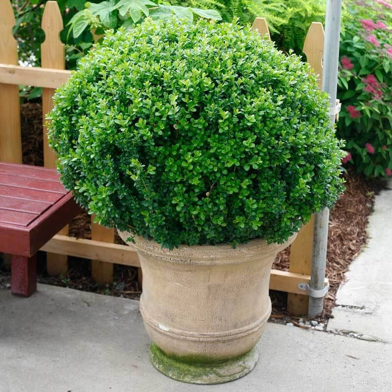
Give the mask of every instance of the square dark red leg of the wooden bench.
[{"label": "square dark red leg of the wooden bench", "polygon": [[37,254],[32,257],[12,255],[11,292],[29,297],[37,290]]}]

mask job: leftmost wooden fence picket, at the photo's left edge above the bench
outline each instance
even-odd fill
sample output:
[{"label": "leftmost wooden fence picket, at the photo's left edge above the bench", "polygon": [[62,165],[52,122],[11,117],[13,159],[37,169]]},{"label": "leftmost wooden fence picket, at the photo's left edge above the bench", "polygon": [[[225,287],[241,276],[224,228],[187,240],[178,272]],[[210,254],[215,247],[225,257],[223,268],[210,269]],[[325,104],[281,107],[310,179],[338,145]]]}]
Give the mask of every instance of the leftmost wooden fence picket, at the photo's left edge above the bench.
[{"label": "leftmost wooden fence picket, at the photo's left edge above the bench", "polygon": [[[15,16],[9,0],[0,0],[0,63],[18,65],[12,35]],[[22,163],[19,86],[0,83],[0,161]]]}]

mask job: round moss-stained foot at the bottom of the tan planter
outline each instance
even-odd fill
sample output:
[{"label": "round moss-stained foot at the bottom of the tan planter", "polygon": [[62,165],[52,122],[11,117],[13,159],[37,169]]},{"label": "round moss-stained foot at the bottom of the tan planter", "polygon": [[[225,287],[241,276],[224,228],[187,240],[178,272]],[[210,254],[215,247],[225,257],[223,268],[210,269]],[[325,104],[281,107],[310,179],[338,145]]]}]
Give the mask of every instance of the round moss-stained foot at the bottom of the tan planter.
[{"label": "round moss-stained foot at the bottom of the tan planter", "polygon": [[150,361],[161,373],[174,380],[191,384],[222,384],[248,374],[259,360],[259,350],[253,347],[242,357],[225,362],[186,363],[165,354],[155,343],[150,346]]}]

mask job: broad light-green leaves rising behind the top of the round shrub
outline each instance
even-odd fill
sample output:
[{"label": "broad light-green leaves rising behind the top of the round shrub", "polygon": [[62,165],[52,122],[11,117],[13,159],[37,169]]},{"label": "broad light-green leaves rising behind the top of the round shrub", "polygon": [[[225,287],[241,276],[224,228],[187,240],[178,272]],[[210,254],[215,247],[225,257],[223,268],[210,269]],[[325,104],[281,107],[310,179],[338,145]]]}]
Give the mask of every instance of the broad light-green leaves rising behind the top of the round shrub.
[{"label": "broad light-green leaves rising behind the top of the round shrub", "polygon": [[148,16],[154,20],[177,17],[192,24],[194,16],[220,21],[221,15],[214,9],[200,9],[179,5],[157,4],[150,0],[109,0],[100,3],[86,2],[86,9],[76,13],[70,20],[69,33],[78,38],[86,29],[103,34],[108,28],[133,28]]}]

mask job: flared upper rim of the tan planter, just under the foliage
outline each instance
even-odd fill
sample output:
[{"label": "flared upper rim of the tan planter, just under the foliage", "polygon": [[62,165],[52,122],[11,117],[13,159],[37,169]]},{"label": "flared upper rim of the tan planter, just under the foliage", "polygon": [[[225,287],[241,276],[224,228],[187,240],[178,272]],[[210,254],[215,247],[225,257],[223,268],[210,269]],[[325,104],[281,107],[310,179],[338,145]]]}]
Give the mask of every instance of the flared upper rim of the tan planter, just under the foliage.
[{"label": "flared upper rim of the tan planter, just under the foliage", "polygon": [[[229,244],[203,244],[203,245],[180,245],[172,250],[163,248],[154,240],[147,240],[142,236],[134,235],[130,231],[117,230],[123,241],[133,247],[137,252],[142,252],[156,259],[166,260],[181,264],[239,264],[254,259],[264,258],[271,253],[278,253],[289,246],[297,233],[289,237],[283,244],[267,244],[266,240],[256,238],[246,244],[238,244],[235,248]],[[132,237],[135,243],[126,241]]]}]

